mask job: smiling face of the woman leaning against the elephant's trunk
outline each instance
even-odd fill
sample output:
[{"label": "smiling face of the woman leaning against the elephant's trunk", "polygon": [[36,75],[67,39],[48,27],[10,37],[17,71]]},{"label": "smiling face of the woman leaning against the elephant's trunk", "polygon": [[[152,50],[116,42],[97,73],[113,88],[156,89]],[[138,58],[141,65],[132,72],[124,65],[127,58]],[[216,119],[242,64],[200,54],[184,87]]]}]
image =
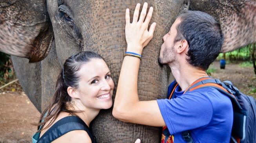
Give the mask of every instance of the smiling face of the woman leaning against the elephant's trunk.
[{"label": "smiling face of the woman leaning against the elephant's trunk", "polygon": [[112,106],[114,82],[103,59],[91,59],[78,71],[80,81],[76,90],[86,108],[109,109]]}]

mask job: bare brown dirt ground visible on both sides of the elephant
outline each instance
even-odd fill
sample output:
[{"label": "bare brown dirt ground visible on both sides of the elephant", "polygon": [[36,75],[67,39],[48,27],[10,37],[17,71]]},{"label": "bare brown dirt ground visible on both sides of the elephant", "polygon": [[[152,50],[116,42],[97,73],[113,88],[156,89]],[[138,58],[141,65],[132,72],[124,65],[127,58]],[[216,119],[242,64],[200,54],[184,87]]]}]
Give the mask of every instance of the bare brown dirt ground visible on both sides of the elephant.
[{"label": "bare brown dirt ground visible on both sides of the elephant", "polygon": [[[210,68],[216,71],[212,77],[220,80],[231,80],[243,93],[248,94],[256,88],[256,79],[252,67],[241,67],[230,63],[225,70],[220,70],[219,63],[214,62]],[[251,95],[256,97],[256,93]],[[30,123],[37,122],[40,113],[30,102],[24,92],[0,93],[0,143],[27,143],[36,127]]]}]

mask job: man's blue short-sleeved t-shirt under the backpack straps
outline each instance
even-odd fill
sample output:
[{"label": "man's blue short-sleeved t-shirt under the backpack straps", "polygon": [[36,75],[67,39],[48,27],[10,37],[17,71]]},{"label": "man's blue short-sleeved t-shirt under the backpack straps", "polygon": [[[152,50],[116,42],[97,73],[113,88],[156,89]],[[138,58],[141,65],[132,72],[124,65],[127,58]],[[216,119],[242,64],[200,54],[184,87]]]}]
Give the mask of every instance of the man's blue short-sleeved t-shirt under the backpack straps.
[{"label": "man's blue short-sleeved t-shirt under the backpack straps", "polygon": [[186,143],[182,132],[187,130],[195,143],[229,143],[233,123],[229,97],[211,87],[183,93],[177,86],[174,99],[157,100],[174,143]]}]

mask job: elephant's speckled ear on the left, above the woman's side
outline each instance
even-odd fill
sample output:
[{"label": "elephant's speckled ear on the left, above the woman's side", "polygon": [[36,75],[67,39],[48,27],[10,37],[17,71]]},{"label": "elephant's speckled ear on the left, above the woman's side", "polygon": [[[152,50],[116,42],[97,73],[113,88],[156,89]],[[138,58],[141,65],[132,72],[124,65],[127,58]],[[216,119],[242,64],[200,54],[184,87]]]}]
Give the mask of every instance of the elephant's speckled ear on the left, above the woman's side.
[{"label": "elephant's speckled ear on the left, above the woman's side", "polygon": [[45,0],[0,1],[0,52],[38,62],[53,38]]}]

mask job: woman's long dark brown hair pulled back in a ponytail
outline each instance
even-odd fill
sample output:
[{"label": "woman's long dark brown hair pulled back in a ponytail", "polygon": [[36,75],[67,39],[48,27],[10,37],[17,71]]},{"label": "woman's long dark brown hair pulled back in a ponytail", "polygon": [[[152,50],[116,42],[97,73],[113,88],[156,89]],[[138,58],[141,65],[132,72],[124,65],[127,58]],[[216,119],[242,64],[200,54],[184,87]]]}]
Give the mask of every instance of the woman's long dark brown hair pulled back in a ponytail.
[{"label": "woman's long dark brown hair pulled back in a ponytail", "polygon": [[[69,86],[72,88],[78,88],[78,82],[80,80],[78,71],[83,64],[88,63],[91,59],[103,58],[95,52],[83,51],[72,55],[65,61],[63,68],[58,75],[55,93],[50,100],[50,104],[42,112],[39,122],[32,124],[38,126],[38,129],[40,125],[42,125],[43,128],[38,130],[38,132],[51,126],[60,112],[67,112],[70,114],[82,112],[74,111],[71,104],[67,104],[71,102],[71,97],[67,93],[67,88]],[[48,121],[50,121],[49,124],[44,127],[44,124]]]}]

